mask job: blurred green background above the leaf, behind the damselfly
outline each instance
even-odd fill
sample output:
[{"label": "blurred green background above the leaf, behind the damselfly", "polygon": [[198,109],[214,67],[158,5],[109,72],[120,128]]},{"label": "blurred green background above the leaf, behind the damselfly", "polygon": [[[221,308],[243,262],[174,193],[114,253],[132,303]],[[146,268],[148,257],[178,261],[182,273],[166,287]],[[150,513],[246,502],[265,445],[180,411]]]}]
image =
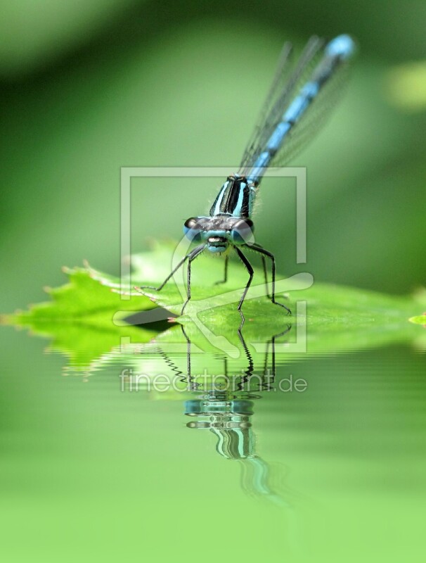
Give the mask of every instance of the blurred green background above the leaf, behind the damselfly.
[{"label": "blurred green background above the leaf, behind the damselfly", "polygon": [[[426,112],[392,104],[389,87],[391,70],[426,57],[423,1],[21,0],[3,10],[1,310],[38,301],[83,258],[118,272],[120,167],[233,170],[281,44],[314,33],[351,33],[360,49],[338,110],[291,163],[308,169],[304,269],[395,293],[424,283]],[[135,189],[133,251],[148,236],[179,237],[217,184]],[[293,272],[293,184],[262,187],[257,238]]]}]

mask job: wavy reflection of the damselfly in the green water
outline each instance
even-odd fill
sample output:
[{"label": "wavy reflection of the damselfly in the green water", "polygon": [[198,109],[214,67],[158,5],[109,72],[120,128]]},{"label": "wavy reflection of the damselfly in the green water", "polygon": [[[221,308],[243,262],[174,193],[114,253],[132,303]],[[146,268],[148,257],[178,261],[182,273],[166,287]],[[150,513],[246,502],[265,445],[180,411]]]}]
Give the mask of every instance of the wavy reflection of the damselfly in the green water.
[{"label": "wavy reflection of the damselfly in the green water", "polygon": [[[266,353],[261,371],[255,373],[254,361],[250,348],[243,334],[238,331],[241,345],[239,369],[229,367],[223,357],[223,372],[195,374],[192,371],[191,339],[182,327],[182,334],[187,342],[187,389],[195,398],[185,401],[184,412],[191,420],[188,429],[209,430],[217,438],[216,450],[226,460],[235,460],[241,464],[241,486],[243,490],[257,498],[263,498],[280,506],[290,506],[290,501],[276,493],[271,486],[269,464],[259,455],[256,436],[252,426],[255,401],[262,398],[262,393],[273,390],[276,378],[276,339],[290,332],[291,325],[285,331],[271,337],[267,342]],[[169,355],[162,353],[164,361],[175,374],[183,377]]]}]

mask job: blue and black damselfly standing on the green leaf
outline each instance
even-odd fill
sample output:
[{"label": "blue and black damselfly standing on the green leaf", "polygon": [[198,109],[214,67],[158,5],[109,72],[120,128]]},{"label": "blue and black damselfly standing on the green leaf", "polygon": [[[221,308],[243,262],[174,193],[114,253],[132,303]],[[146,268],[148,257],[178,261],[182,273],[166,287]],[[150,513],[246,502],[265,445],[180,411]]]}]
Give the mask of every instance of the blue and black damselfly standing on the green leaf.
[{"label": "blue and black damselfly standing on the green leaf", "polygon": [[[186,301],[181,313],[191,299],[191,264],[202,252],[225,253],[225,275],[228,277],[227,251],[233,249],[245,265],[248,280],[238,303],[241,310],[253,279],[253,267],[244,250],[254,251],[262,257],[266,293],[272,303],[290,309],[275,298],[276,261],[273,254],[254,242],[252,210],[266,167],[284,165],[305,141],[318,129],[328,110],[335,105],[335,94],[340,91],[344,68],[354,53],[354,42],[349,35],[335,37],[329,43],[311,37],[294,70],[290,69],[292,45],[285,43],[266,96],[257,125],[245,149],[238,173],[228,176],[208,216],[191,217],[185,222],[184,234],[199,243],[179,262],[174,270],[155,288],[140,289],[160,291],[177,270],[188,262]],[[316,110],[315,110],[316,109]],[[271,293],[268,291],[266,258],[271,260]]]}]

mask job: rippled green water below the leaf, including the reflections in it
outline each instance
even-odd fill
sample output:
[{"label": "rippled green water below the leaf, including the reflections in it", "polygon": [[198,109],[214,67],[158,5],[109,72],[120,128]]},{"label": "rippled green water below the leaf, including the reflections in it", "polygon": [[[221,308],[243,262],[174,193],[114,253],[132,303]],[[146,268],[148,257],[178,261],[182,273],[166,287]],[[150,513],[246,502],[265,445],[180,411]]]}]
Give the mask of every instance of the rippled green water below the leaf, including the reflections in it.
[{"label": "rippled green water below the leaf, including the reflections in it", "polygon": [[421,350],[276,354],[275,369],[271,348],[191,350],[188,379],[187,346],[70,369],[42,340],[7,339],[8,562],[424,557]]}]

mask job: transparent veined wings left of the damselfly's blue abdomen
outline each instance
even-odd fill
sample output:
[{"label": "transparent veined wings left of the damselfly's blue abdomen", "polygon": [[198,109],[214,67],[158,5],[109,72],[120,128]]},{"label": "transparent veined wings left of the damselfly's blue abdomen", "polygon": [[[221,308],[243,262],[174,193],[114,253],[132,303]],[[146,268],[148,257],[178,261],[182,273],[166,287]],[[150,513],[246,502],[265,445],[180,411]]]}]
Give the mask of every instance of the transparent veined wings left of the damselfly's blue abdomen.
[{"label": "transparent veined wings left of the damselfly's blue abdomen", "polygon": [[288,65],[292,46],[288,43],[284,45],[271,89],[266,96],[257,125],[254,127],[254,132],[241,160],[241,174],[247,172],[264,149],[266,141],[271,137],[273,130],[281,121],[285,109],[295,94],[297,94],[297,91],[306,82],[319,58],[321,58],[323,44],[323,39],[316,36],[311,37],[293,71],[290,65]]}]

